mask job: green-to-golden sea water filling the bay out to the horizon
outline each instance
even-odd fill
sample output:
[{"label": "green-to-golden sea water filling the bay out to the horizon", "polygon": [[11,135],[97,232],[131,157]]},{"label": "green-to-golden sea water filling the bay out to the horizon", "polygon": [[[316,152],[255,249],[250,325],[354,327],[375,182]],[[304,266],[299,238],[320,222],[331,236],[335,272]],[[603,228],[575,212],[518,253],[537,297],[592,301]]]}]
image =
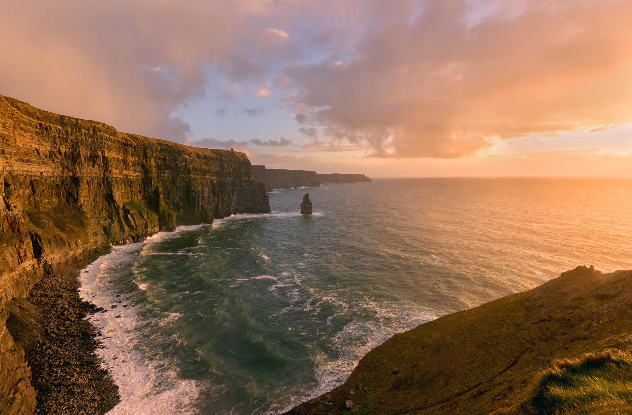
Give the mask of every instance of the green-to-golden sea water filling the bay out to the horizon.
[{"label": "green-to-golden sea water filling the bay out to the horizon", "polygon": [[[299,214],[306,192],[312,216]],[[272,214],[179,227],[85,268],[82,296],[111,310],[93,317],[121,388],[111,414],[276,414],[344,382],[393,334],[577,265],[632,268],[629,179],[269,196]]]}]

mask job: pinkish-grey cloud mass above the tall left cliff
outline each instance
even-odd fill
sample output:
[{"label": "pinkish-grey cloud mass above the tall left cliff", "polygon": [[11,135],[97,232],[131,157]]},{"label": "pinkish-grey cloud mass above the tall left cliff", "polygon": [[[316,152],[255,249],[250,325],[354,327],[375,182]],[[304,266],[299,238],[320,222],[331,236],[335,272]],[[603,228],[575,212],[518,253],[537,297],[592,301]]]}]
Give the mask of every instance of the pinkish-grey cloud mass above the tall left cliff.
[{"label": "pinkish-grey cloud mass above the tall left cliff", "polygon": [[[0,93],[121,131],[185,142],[191,128],[174,114],[205,99],[212,76],[221,74],[233,87],[218,93],[230,101],[240,83],[261,85],[272,63],[296,54],[284,30],[265,28],[274,27],[270,20],[290,0],[275,8],[242,3],[157,0],[148,8],[140,0],[5,1]],[[270,97],[272,85],[253,93]]]}]

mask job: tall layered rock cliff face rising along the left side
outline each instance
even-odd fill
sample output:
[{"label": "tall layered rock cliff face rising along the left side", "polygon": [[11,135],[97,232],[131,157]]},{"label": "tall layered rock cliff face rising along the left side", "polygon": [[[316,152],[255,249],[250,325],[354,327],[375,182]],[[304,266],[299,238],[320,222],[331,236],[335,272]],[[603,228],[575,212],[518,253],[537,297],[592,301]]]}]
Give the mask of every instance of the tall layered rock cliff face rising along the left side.
[{"label": "tall layered rock cliff face rising along the left side", "polygon": [[6,303],[90,251],[181,224],[269,212],[244,153],[119,133],[0,95],[0,408],[30,414],[35,390]]}]

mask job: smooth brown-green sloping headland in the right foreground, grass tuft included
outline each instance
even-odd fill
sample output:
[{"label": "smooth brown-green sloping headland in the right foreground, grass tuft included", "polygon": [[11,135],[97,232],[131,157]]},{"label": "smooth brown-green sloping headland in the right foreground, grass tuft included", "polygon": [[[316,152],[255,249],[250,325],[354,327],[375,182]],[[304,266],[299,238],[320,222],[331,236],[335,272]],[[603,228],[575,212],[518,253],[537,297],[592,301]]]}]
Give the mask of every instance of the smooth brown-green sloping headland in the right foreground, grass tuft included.
[{"label": "smooth brown-green sloping headland in the right foreground, grass tuft included", "polygon": [[286,413],[632,413],[631,304],[632,271],[577,267],[394,335]]}]

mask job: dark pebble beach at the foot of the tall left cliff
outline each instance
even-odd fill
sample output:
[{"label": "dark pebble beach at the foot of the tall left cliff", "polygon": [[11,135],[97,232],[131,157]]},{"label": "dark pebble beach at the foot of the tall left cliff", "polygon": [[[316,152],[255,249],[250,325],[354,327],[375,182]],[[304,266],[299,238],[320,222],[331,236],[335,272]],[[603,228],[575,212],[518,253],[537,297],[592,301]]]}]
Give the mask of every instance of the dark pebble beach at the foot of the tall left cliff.
[{"label": "dark pebble beach at the foot of the tall left cliff", "polygon": [[[83,267],[111,250],[98,248]],[[98,313],[80,299],[79,269],[44,277],[26,299],[8,304],[7,327],[25,352],[37,392],[35,414],[106,414],[119,402],[118,386],[95,355],[99,329],[84,318]]]}]

